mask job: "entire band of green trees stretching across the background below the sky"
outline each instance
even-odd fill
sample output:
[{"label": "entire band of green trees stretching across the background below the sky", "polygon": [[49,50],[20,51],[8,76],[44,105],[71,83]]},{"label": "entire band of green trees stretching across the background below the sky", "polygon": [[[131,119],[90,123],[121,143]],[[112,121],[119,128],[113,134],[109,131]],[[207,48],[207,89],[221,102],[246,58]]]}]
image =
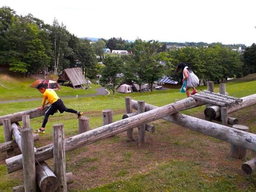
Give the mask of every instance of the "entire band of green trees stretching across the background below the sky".
[{"label": "entire band of green trees stretching across the background below the sky", "polygon": [[[168,46],[174,46],[170,49]],[[175,47],[179,46],[179,47]],[[244,53],[234,48],[242,47]],[[127,50],[130,54],[119,58],[105,57],[103,48]],[[162,76],[181,80],[174,71],[178,63],[186,63],[206,84],[208,80],[219,83],[228,77],[242,77],[256,73],[256,45],[207,44],[203,42],[158,42],[141,39],[129,42],[120,38],[103,38],[96,42],[77,38],[66,26],[54,18],[52,25],[31,14],[18,16],[9,7],[0,8],[0,65],[9,70],[27,72],[51,71],[59,74],[63,69],[81,67],[83,74],[91,79],[102,72],[101,85],[110,86],[119,81],[136,82],[141,86],[152,85]],[[116,77],[123,74],[122,77]],[[110,78],[111,77],[111,78]]]}]

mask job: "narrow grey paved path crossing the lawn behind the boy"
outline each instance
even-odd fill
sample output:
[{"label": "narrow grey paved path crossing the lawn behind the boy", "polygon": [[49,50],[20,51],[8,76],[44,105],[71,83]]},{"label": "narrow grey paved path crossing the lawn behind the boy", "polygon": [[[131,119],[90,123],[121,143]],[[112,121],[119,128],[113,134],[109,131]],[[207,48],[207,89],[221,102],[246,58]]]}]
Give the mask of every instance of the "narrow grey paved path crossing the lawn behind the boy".
[{"label": "narrow grey paved path crossing the lawn behind the boy", "polygon": [[[104,87],[96,89],[97,93],[89,94],[89,95],[80,95],[78,97],[93,97],[98,95],[107,95],[109,92],[105,90]],[[61,98],[76,98],[76,96],[66,96]],[[18,100],[1,100],[0,103],[16,103],[16,102],[23,102],[23,101],[31,101],[31,100],[42,100],[42,98],[30,98],[30,99],[18,99]]]}]

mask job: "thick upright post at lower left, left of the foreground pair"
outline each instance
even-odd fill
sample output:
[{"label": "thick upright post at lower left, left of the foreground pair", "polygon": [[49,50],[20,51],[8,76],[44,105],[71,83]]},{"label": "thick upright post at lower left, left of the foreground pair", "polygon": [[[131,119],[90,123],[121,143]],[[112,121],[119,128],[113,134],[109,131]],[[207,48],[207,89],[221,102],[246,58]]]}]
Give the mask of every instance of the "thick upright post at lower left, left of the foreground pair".
[{"label": "thick upright post at lower left, left of the foreground pair", "polygon": [[25,128],[21,130],[21,144],[24,188],[26,192],[36,192],[36,166],[32,129]]}]

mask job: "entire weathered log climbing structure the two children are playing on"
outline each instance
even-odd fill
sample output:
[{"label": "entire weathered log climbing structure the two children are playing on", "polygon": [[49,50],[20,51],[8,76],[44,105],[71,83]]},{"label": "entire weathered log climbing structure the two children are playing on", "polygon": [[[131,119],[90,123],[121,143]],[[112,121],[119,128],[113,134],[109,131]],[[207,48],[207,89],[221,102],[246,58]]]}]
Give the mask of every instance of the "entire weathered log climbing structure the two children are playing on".
[{"label": "entire weathered log climbing structure the two children are playing on", "polygon": [[[127,131],[128,141],[133,141],[133,129],[138,127],[138,146],[144,147],[146,131],[154,132],[150,122],[160,118],[181,125],[188,129],[212,136],[231,143],[230,156],[244,158],[246,150],[256,151],[256,134],[249,133],[249,127],[239,125],[238,119],[230,113],[256,105],[256,94],[243,98],[234,98],[226,93],[226,85],[220,84],[219,93],[213,92],[213,82],[208,82],[208,90],[177,102],[156,107],[144,101],[125,98],[126,114],[123,119],[113,122],[112,110],[103,110],[103,126],[89,130],[89,118],[82,116],[78,120],[78,135],[64,139],[64,125],[53,125],[53,144],[35,148],[38,135],[32,134],[30,118],[43,116],[47,107],[39,112],[37,109],[0,116],[0,125],[5,132],[5,143],[0,144],[0,152],[6,152],[9,173],[23,169],[24,185],[14,191],[67,191],[67,183],[73,182],[73,174],[66,173],[65,152],[89,145],[104,138]],[[206,105],[206,120],[181,114],[181,111]],[[133,112],[133,109],[137,112]],[[221,121],[221,124],[213,123]],[[23,122],[23,128],[18,125]],[[231,127],[232,126],[232,127]],[[12,140],[14,137],[14,140]],[[22,154],[14,156],[13,149],[19,147]],[[54,170],[45,162],[54,159]],[[251,174],[256,170],[256,158],[242,164],[242,170]]]}]

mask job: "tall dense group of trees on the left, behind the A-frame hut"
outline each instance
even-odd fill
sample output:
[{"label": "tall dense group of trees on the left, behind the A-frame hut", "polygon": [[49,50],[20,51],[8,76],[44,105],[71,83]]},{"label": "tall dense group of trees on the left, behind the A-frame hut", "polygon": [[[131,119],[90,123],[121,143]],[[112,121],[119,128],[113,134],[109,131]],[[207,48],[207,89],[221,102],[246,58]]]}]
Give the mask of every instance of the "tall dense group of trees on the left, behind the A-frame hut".
[{"label": "tall dense group of trees on the left, behind the A-frame hut", "polygon": [[46,25],[31,14],[23,17],[9,7],[0,8],[0,64],[9,65],[9,70],[25,75],[49,69],[59,74],[81,67],[86,72],[96,63],[89,40],[72,35],[55,18],[53,25]]}]

